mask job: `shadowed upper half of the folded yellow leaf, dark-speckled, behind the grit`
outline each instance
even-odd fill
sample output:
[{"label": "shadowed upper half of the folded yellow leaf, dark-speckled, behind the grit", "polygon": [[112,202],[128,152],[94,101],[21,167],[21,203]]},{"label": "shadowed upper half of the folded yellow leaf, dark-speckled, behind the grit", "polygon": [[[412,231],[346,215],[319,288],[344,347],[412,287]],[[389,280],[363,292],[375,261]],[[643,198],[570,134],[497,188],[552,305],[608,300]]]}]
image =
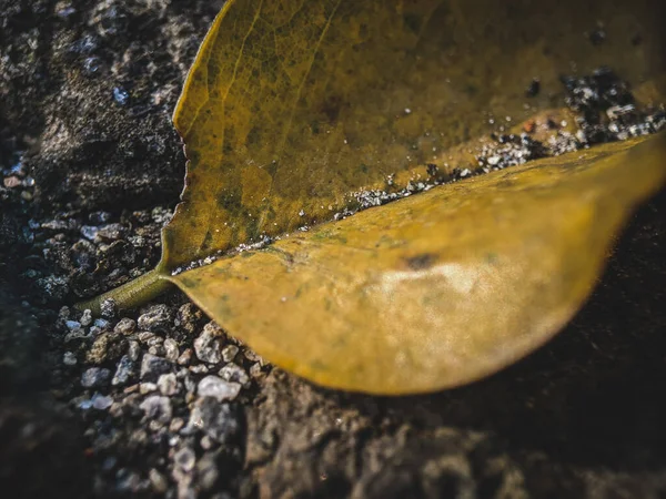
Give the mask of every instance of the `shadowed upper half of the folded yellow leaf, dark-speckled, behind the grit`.
[{"label": "shadowed upper half of the folded yellow leaf, dark-speckled, behind the grit", "polygon": [[[173,116],[190,162],[162,265],[332,220],[389,175],[445,173],[442,154],[490,131],[488,112],[552,106],[576,64],[652,78],[658,40],[627,39],[656,22],[649,6],[579,3],[228,1]],[[599,6],[608,39],[595,47],[583,33]],[[525,110],[533,74],[544,91]]]}]

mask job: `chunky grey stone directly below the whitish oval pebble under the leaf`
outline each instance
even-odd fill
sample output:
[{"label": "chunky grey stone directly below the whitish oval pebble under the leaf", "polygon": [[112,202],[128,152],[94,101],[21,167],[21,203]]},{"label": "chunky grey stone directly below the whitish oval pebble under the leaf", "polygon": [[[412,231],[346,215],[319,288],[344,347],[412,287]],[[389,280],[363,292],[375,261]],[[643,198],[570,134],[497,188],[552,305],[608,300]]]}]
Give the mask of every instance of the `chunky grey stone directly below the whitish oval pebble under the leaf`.
[{"label": "chunky grey stone directly below the whitish oval pebble under the leaf", "polygon": [[188,429],[200,429],[222,445],[231,441],[240,428],[238,408],[230,404],[220,404],[212,397],[199,398],[194,403],[188,422]]}]

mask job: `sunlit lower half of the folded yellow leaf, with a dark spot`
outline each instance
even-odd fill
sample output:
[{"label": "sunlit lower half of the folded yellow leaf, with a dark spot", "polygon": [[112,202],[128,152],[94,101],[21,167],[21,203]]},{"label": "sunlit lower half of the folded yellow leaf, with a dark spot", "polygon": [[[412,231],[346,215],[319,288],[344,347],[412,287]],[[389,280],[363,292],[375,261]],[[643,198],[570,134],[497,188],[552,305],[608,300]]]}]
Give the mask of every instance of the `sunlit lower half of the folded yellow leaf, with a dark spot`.
[{"label": "sunlit lower half of the folded yellow leaf, with a dark spot", "polygon": [[581,307],[666,135],[494,172],[171,278],[260,355],[376,394],[453,387],[515,361]]}]

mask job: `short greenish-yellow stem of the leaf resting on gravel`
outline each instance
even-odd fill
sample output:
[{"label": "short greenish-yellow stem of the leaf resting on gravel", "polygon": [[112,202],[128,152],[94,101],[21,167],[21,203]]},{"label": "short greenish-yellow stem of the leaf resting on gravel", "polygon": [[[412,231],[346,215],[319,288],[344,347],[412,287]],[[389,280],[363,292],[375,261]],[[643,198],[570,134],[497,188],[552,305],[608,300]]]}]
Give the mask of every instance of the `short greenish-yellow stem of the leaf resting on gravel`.
[{"label": "short greenish-yellow stem of the leaf resting on gravel", "polygon": [[95,296],[88,302],[81,302],[74,305],[80,310],[89,308],[94,315],[99,315],[102,303],[105,299],[113,299],[120,310],[137,308],[145,302],[150,302],[171,287],[171,283],[165,278],[164,268],[159,266],[143,274],[135,279],[123,284],[115,289],[111,289],[103,295]]}]

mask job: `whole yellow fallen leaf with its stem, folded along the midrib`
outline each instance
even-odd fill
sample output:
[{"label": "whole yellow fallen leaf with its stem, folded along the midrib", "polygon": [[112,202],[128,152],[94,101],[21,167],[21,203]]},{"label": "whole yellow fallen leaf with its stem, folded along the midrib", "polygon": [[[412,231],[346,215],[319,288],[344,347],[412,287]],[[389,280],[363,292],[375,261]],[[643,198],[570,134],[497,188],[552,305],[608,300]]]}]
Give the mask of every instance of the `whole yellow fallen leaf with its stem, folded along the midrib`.
[{"label": "whole yellow fallen leaf with its stem, folded along the midrib", "polygon": [[[663,182],[663,138],[326,222],[355,192],[475,171],[497,121],[543,133],[539,112],[562,104],[576,65],[612,62],[659,102],[654,3],[229,0],[174,112],[189,162],[162,261],[82,306],[137,306],[174,283],[269,360],[352,390],[434,390],[511,364],[589,294],[626,216]],[[599,12],[607,37],[593,44]]]}]

